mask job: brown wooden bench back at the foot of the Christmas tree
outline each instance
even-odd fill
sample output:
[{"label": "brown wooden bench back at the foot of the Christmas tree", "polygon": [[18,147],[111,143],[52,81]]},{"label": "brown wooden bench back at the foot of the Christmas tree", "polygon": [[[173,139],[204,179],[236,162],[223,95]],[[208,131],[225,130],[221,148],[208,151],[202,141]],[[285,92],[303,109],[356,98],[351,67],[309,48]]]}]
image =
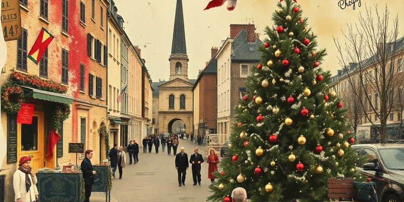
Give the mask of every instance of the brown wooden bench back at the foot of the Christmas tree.
[{"label": "brown wooden bench back at the foot of the Christmas tree", "polygon": [[[330,201],[350,201],[359,202],[354,200],[354,179],[352,178],[328,178],[328,197]],[[345,200],[336,200],[344,198]],[[349,200],[347,200],[349,199]]]}]

